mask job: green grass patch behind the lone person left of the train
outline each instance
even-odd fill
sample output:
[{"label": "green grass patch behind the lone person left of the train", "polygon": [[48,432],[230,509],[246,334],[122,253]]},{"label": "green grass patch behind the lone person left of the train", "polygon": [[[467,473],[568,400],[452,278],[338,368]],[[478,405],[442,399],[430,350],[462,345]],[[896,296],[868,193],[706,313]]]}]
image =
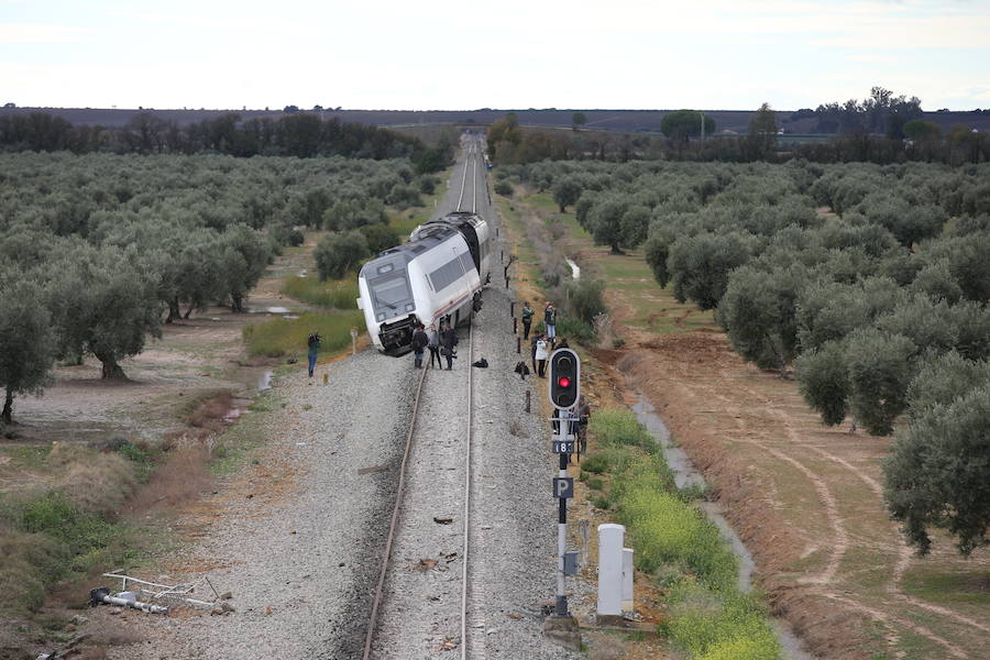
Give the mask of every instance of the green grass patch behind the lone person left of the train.
[{"label": "green grass patch behind the lone person left of the train", "polygon": [[307,312],[298,319],[272,319],[245,326],[244,341],[252,355],[282,358],[307,352],[306,339],[318,332],[322,339],[320,352],[328,353],[351,345],[351,328],[364,326],[359,310]]}]

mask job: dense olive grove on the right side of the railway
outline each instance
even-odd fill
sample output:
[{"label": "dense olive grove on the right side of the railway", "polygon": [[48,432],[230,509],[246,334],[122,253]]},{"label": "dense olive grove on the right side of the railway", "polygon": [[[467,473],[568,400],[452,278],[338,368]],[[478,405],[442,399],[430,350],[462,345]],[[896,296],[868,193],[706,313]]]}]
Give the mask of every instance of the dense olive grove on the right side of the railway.
[{"label": "dense olive grove on the right side of the railway", "polygon": [[887,502],[909,541],[990,525],[990,164],[544,162],[503,176],[641,246],[660,286],[735,350],[793,367],[826,425],[898,429]]}]

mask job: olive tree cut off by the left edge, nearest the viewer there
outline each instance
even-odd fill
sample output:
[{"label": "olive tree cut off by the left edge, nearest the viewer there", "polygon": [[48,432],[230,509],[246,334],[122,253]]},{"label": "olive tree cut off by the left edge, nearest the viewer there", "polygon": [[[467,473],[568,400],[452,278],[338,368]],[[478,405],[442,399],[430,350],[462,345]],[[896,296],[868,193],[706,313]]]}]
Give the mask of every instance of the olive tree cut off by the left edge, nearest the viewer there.
[{"label": "olive tree cut off by the left edge, nearest the viewer there", "polygon": [[15,394],[38,394],[50,383],[56,353],[44,292],[22,273],[0,271],[0,422],[11,424]]}]

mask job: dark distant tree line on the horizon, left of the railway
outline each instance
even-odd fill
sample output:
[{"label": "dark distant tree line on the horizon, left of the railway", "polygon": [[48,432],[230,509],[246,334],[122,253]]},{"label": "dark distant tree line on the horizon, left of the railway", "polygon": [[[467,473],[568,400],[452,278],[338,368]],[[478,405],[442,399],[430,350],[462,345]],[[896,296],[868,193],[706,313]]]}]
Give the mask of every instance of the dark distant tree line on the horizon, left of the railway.
[{"label": "dark distant tree line on the horizon, left of the railway", "polygon": [[338,118],[289,113],[243,121],[230,113],[186,125],[139,112],[122,128],[74,125],[46,112],[0,117],[0,151],[69,151],[136,154],[229,154],[232,156],[345,156],[404,158],[420,172],[450,164],[453,145],[427,148],[416,138]]}]

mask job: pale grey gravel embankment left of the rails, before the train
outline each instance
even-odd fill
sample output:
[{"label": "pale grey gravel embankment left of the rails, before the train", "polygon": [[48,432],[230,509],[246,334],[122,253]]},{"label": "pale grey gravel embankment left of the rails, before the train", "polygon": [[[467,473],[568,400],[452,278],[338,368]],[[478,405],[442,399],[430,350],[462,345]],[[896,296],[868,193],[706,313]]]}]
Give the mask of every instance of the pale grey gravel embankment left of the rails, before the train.
[{"label": "pale grey gravel embankment left of the rails, before the train", "polygon": [[[323,369],[328,385],[302,371],[277,383],[287,407],[274,414],[284,424],[265,454],[298,465],[298,490],[275,506],[264,497],[229,503],[202,542],[177,558],[223,566],[206,574],[233,593],[237,612],[128,613],[151,641],[111,658],[360,657],[414,376],[407,361],[373,351]],[[374,466],[383,469],[365,470]]]}]

